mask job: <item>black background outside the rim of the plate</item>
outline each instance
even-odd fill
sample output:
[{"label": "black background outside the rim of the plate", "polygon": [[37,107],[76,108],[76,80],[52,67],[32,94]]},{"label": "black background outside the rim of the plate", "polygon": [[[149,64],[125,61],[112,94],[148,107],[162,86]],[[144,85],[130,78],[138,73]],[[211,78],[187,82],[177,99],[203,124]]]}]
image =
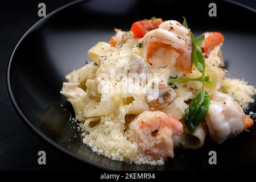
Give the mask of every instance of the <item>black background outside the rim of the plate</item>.
[{"label": "black background outside the rim of the plate", "polygon": [[[16,114],[7,92],[6,70],[11,52],[28,28],[40,19],[40,2],[46,3],[48,14],[72,1],[0,1],[0,170],[95,170],[57,150],[32,131]],[[255,0],[236,2],[256,9]],[[47,165],[38,164],[40,150],[46,151]]]}]

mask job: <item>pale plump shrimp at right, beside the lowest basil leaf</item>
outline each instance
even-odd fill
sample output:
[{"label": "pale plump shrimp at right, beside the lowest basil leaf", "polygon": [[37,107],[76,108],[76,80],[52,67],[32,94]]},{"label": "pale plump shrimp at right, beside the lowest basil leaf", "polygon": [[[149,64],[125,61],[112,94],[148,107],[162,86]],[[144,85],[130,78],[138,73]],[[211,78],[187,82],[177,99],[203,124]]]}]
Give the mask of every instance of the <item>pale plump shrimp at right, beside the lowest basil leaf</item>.
[{"label": "pale plump shrimp at right, beside the lowest basil leaf", "polygon": [[245,117],[242,108],[233,98],[221,92],[214,94],[205,121],[210,137],[218,144],[243,130],[247,131],[247,128],[253,125],[252,119]]}]

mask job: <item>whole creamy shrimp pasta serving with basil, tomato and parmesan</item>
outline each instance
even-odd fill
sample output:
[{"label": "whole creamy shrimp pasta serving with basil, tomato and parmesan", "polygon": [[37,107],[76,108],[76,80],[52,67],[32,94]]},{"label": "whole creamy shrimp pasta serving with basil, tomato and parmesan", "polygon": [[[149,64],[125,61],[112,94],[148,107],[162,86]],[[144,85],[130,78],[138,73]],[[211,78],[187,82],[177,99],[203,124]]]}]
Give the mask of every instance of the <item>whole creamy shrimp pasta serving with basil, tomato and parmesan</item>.
[{"label": "whole creamy shrimp pasta serving with basil, tomato and parmesan", "polygon": [[83,67],[65,76],[82,142],[113,160],[162,165],[176,147],[197,149],[209,132],[221,144],[254,121],[244,111],[254,86],[229,78],[224,35],[195,38],[184,18],[145,19],[115,28],[109,42],[89,49]]}]

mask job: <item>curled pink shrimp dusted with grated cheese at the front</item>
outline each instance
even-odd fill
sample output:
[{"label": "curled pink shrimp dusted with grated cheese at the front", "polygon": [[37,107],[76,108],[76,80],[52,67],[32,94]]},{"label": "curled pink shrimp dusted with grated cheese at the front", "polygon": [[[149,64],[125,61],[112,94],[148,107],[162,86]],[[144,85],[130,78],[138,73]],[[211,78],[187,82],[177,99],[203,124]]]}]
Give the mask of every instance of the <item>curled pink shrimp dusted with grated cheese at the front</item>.
[{"label": "curled pink shrimp dusted with grated cheese at the front", "polygon": [[174,158],[173,135],[183,133],[182,123],[162,111],[144,111],[130,123],[129,134],[138,152],[154,159]]}]

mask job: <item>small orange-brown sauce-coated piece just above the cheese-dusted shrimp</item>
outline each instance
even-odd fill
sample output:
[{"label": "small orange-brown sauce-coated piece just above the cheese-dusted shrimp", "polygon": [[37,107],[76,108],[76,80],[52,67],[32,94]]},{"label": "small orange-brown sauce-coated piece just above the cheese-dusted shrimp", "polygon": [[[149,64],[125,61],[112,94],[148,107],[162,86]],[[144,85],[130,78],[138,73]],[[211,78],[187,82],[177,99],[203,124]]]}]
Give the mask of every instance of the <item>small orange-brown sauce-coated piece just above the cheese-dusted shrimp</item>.
[{"label": "small orange-brown sauce-coated piece just above the cheese-dusted shrimp", "polygon": [[170,86],[159,84],[159,96],[156,100],[149,100],[146,96],[146,102],[151,110],[162,110],[175,101],[176,92]]}]

